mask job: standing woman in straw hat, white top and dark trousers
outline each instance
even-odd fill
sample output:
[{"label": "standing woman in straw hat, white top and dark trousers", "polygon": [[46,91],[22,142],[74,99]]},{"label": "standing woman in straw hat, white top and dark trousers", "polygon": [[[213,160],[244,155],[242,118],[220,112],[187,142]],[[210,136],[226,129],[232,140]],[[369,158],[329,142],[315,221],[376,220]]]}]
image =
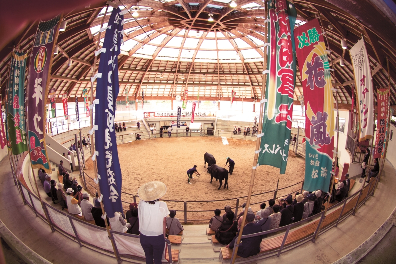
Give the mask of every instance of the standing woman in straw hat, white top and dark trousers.
[{"label": "standing woman in straw hat, white top and dark trousers", "polygon": [[152,181],[140,186],[137,195],[139,203],[140,244],[146,255],[146,263],[161,264],[165,247],[166,217],[168,206],[160,198],[166,193],[163,182]]}]

